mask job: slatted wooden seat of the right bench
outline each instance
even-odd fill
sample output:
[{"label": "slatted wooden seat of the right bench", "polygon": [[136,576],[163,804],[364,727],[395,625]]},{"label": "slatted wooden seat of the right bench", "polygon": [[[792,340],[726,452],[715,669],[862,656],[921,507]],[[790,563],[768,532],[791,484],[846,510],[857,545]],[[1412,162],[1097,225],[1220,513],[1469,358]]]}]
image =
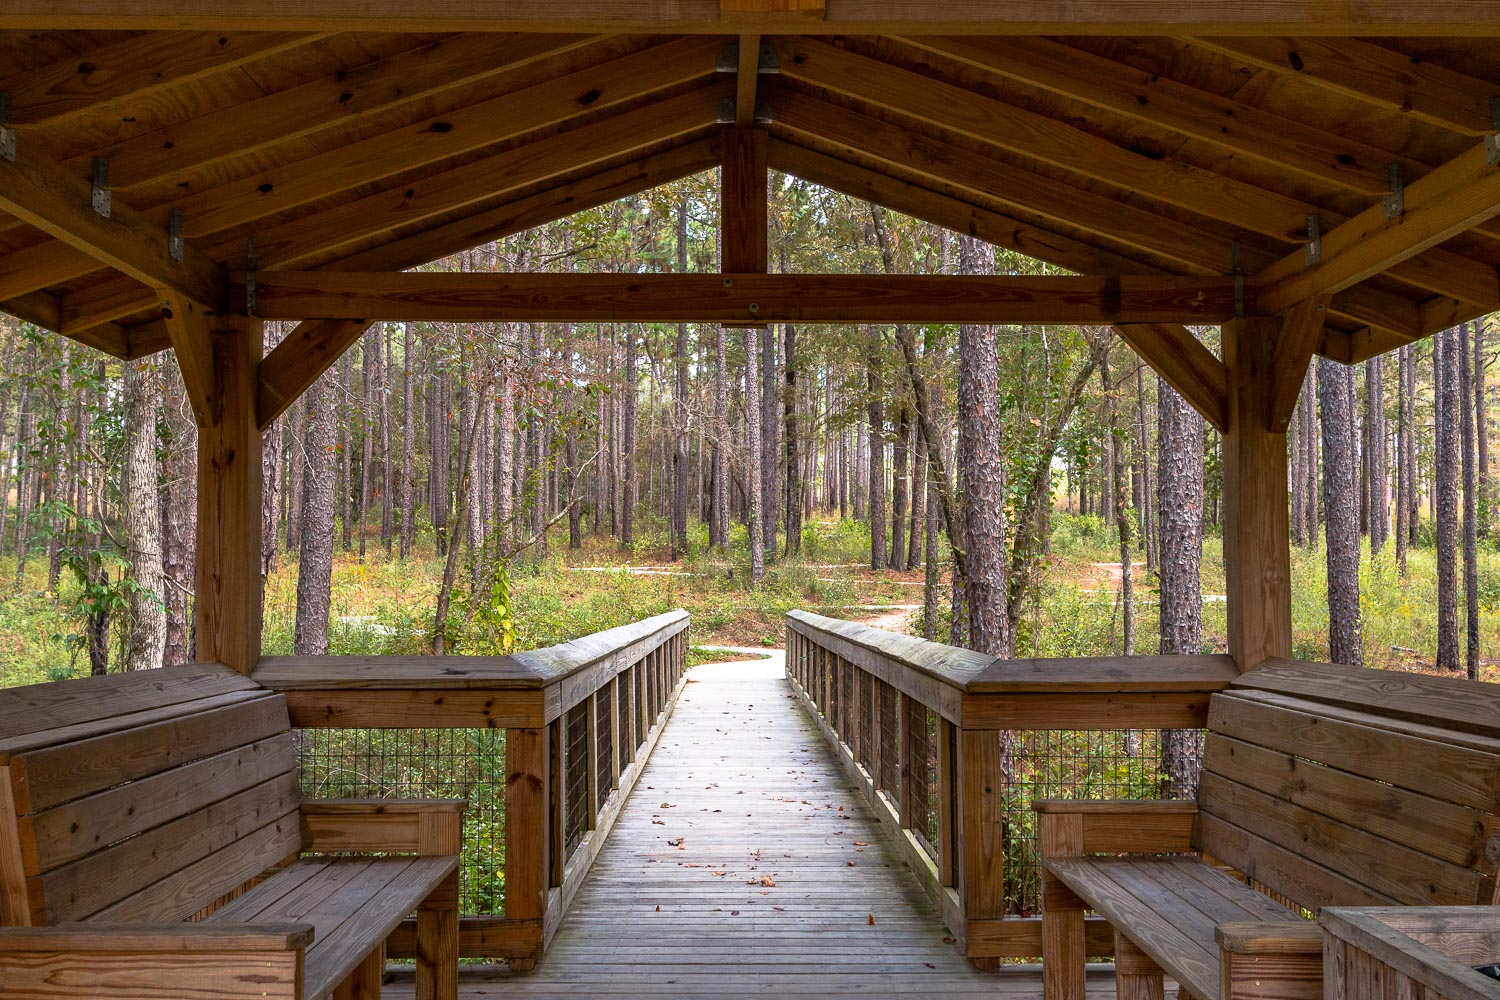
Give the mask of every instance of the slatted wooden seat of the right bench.
[{"label": "slatted wooden seat of the right bench", "polygon": [[1220,1000],[1216,927],[1287,925],[1322,948],[1308,921],[1197,858],[1053,858],[1046,868],[1198,1000]]}]

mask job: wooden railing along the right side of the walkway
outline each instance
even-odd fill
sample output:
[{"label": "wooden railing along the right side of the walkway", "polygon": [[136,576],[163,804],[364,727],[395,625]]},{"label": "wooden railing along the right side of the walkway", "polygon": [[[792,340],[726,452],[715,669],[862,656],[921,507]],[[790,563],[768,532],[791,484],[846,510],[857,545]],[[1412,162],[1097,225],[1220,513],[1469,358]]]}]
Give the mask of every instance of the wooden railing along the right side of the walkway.
[{"label": "wooden railing along the right side of the walkway", "polygon": [[[998,660],[807,612],[786,642],[794,693],[981,963],[1041,955],[1032,795],[1166,792],[1150,753],[1236,676],[1228,657]],[[1089,955],[1113,948],[1090,924]]]}]

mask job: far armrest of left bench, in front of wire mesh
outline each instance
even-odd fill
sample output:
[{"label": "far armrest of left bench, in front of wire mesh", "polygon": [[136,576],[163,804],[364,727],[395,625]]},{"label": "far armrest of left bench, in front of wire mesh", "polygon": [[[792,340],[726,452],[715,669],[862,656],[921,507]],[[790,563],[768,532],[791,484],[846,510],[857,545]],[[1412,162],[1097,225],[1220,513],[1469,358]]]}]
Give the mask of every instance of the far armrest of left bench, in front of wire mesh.
[{"label": "far armrest of left bench, in front of wire mesh", "polygon": [[308,799],[306,850],[314,853],[458,855],[466,799]]}]

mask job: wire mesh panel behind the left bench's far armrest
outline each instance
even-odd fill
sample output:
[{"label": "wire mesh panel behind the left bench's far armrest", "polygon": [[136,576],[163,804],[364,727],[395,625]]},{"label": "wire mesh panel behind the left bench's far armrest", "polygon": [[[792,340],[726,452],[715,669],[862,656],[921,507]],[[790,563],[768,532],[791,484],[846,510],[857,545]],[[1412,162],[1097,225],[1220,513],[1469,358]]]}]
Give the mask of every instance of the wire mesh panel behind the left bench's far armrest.
[{"label": "wire mesh panel behind the left bench's far armrest", "polygon": [[506,732],[302,729],[302,793],[334,799],[468,799],[459,912],[506,909]]}]

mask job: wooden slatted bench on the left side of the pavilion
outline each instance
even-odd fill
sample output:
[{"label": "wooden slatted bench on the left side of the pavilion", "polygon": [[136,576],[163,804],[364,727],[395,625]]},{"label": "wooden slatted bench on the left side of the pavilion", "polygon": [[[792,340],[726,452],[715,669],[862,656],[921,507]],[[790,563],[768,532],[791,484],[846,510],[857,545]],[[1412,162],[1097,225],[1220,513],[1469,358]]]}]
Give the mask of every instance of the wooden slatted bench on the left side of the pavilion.
[{"label": "wooden slatted bench on the left side of the pavilion", "polygon": [[285,699],[218,664],[0,691],[0,993],[378,997],[416,913],[454,1000],[462,810],[303,799]]}]

